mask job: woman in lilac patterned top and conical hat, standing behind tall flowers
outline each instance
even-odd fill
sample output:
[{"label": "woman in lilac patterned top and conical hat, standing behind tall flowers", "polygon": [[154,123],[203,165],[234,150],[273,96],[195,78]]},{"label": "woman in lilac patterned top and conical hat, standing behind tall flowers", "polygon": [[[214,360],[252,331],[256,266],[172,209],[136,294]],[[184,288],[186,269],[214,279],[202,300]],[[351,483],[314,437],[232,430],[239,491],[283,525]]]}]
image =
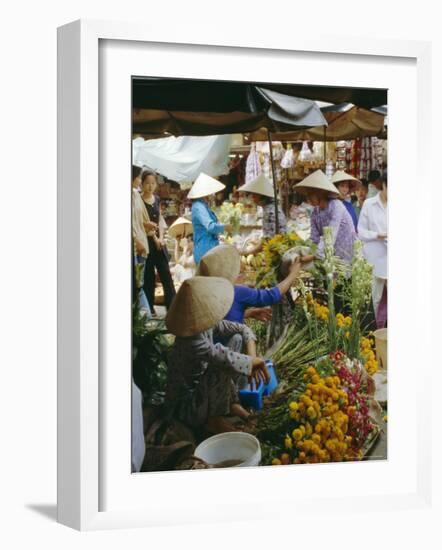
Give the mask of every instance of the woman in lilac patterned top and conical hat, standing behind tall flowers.
[{"label": "woman in lilac patterned top and conical hat, standing behind tall flowers", "polygon": [[324,227],[331,227],[335,255],[350,263],[353,258],[353,243],[357,240],[350,214],[339,199],[339,191],[322,172],[316,170],[300,183],[295,190],[307,196],[314,206],[311,216],[311,240],[318,245],[316,255],[324,257]]}]

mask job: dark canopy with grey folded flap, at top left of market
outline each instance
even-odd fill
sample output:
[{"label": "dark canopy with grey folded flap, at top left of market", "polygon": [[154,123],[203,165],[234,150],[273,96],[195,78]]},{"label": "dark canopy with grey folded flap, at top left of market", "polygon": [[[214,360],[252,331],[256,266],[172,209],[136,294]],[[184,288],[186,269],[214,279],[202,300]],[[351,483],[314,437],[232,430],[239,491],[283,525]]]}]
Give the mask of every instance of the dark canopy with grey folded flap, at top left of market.
[{"label": "dark canopy with grey folded flap, at top left of market", "polygon": [[190,87],[189,81],[179,81],[180,87],[166,86],[163,96],[159,93],[161,83],[156,88],[137,82],[133,91],[134,135],[203,136],[259,128],[282,132],[327,124],[315,101],[251,84],[213,82],[210,84],[216,86],[210,91],[204,81],[190,81]]}]

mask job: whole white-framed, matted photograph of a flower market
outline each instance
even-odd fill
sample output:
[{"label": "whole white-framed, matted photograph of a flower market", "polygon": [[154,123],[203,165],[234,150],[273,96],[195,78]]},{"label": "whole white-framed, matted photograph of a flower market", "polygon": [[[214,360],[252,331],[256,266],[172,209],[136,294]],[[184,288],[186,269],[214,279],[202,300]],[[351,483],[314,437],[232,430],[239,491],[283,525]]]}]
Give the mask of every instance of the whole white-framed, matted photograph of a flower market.
[{"label": "whole white-framed, matted photograph of a flower market", "polygon": [[429,503],[430,45],[265,46],[59,29],[68,526]]}]

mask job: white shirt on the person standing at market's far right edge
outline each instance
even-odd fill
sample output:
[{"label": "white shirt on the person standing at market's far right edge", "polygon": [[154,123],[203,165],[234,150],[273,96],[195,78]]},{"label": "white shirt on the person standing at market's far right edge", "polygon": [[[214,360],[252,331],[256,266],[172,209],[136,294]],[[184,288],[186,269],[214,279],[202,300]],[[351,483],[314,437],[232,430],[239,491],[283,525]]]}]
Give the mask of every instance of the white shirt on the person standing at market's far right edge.
[{"label": "white shirt on the person standing at market's far right edge", "polygon": [[388,234],[388,208],[378,193],[362,205],[358,236],[364,242],[364,256],[373,265],[374,275],[387,279],[387,240],[378,239],[379,234]]}]

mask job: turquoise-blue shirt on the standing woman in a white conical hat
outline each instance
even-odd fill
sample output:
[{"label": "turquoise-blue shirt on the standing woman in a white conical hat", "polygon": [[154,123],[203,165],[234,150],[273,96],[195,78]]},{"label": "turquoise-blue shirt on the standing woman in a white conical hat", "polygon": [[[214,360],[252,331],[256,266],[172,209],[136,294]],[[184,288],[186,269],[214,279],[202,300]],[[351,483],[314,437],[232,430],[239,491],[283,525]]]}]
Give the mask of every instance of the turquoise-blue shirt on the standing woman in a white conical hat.
[{"label": "turquoise-blue shirt on the standing woman in a white conical hat", "polygon": [[218,235],[224,231],[224,225],[218,223],[216,214],[203,200],[192,204],[193,257],[198,264],[206,252],[218,246]]}]

